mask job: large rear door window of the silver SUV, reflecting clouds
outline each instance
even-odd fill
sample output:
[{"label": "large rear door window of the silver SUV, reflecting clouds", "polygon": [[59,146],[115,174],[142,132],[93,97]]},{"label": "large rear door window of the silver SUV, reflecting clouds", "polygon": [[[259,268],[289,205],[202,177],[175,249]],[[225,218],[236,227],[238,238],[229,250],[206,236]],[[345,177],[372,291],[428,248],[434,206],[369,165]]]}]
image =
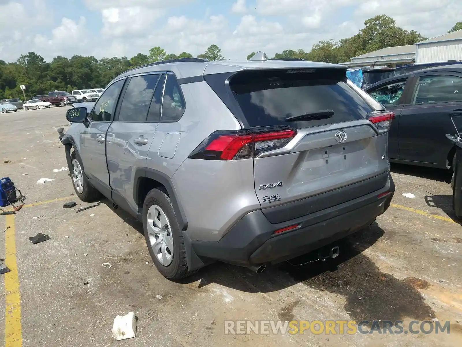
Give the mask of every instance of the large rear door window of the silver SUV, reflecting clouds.
[{"label": "large rear door window of the silver SUV, reflecting clouds", "polygon": [[130,79],[120,108],[120,122],[146,121],[158,79],[158,74],[136,76]]}]

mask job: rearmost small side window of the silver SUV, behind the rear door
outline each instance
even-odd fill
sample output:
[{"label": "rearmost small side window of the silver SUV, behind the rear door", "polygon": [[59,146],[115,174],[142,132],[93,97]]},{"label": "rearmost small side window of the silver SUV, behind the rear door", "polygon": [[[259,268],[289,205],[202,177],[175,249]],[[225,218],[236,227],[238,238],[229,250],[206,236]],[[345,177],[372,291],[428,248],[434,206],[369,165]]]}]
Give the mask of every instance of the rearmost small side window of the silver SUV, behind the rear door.
[{"label": "rearmost small side window of the silver SUV, behind the rear door", "polygon": [[176,122],[183,115],[184,108],[180,85],[174,75],[168,74],[165,82],[164,98],[162,99],[162,121]]}]

